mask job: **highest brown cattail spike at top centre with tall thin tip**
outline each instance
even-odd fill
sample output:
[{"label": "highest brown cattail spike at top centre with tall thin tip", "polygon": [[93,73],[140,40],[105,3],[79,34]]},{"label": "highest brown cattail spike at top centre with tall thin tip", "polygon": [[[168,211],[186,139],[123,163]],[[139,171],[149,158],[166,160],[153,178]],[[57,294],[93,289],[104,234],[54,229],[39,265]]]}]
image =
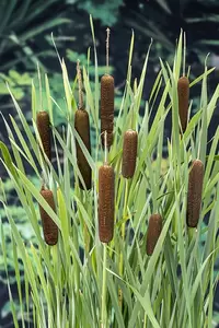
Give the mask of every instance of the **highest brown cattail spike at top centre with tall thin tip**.
[{"label": "highest brown cattail spike at top centre with tall thin tip", "polygon": [[101,78],[101,137],[104,147],[104,132],[107,132],[107,148],[113,144],[114,127],[114,78],[105,74]]}]

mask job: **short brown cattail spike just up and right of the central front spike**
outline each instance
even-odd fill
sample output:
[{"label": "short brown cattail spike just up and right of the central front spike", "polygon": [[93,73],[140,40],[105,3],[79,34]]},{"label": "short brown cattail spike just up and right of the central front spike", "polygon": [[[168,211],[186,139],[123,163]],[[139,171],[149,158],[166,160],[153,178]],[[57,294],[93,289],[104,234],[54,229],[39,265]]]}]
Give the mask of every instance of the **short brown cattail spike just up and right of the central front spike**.
[{"label": "short brown cattail spike just up and right of the central front spike", "polygon": [[128,130],[124,134],[122,174],[125,178],[131,178],[136,169],[138,149],[138,133]]}]

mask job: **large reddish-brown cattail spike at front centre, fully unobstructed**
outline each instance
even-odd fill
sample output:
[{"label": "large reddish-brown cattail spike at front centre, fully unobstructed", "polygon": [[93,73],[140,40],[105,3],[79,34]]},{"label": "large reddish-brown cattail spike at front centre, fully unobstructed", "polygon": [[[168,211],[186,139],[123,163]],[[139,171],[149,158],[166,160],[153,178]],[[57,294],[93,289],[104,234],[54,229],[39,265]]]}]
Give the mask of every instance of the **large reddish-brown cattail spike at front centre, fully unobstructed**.
[{"label": "large reddish-brown cattail spike at front centre, fully unobstructed", "polygon": [[104,164],[99,169],[99,236],[110,243],[114,234],[114,169]]}]

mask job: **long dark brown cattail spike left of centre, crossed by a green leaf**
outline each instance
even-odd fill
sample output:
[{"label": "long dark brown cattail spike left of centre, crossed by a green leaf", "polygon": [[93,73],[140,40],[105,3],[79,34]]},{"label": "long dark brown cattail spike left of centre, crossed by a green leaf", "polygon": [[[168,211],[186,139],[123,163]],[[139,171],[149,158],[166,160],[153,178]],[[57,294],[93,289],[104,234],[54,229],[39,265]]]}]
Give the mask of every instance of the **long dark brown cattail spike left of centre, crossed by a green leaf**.
[{"label": "long dark brown cattail spike left of centre, crossed by a green leaf", "polygon": [[[79,136],[81,137],[84,145],[87,147],[89,153],[91,153],[91,140],[90,140],[90,121],[89,114],[84,109],[78,109],[74,116],[74,128]],[[87,189],[91,189],[91,166],[87,161],[78,141],[76,142],[77,160],[80,173],[83,177]],[[83,189],[83,185],[79,181],[79,186]]]}]

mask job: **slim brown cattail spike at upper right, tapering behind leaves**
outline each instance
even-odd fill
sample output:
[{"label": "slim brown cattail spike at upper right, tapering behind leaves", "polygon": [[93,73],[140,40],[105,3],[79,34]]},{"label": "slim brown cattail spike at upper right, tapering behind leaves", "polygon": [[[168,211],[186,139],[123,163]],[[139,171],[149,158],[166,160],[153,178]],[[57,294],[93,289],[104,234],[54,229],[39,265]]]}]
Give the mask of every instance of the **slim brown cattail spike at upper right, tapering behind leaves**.
[{"label": "slim brown cattail spike at upper right, tapering behind leaves", "polygon": [[189,98],[189,81],[188,78],[182,77],[177,82],[178,95],[178,115],[183,133],[186,130],[188,118],[188,98]]}]

